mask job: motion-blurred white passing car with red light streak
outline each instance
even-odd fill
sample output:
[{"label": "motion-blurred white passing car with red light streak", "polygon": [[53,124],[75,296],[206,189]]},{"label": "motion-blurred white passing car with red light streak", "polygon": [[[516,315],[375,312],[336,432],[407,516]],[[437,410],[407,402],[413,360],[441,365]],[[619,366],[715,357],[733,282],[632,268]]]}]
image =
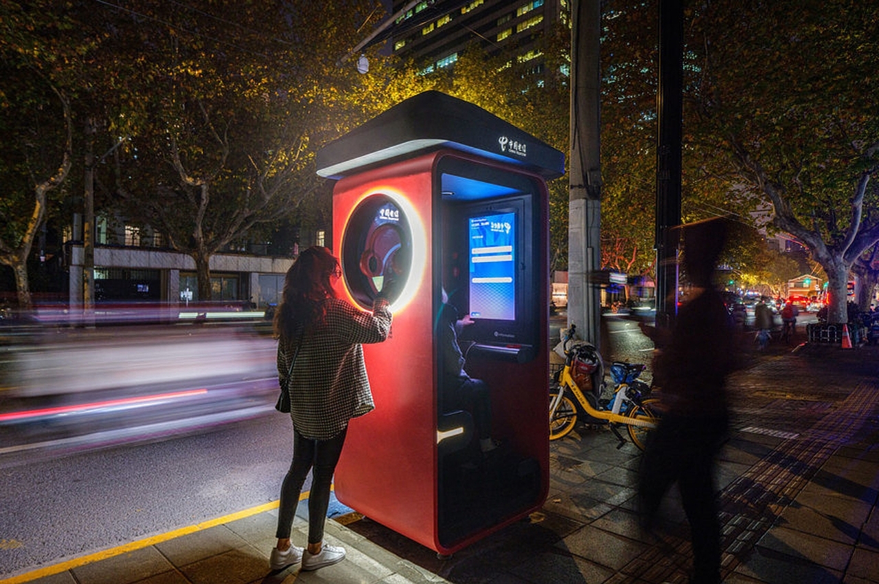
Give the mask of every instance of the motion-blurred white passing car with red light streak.
[{"label": "motion-blurred white passing car with red light streak", "polygon": [[275,341],[241,325],[0,331],[0,459],[272,412]]}]

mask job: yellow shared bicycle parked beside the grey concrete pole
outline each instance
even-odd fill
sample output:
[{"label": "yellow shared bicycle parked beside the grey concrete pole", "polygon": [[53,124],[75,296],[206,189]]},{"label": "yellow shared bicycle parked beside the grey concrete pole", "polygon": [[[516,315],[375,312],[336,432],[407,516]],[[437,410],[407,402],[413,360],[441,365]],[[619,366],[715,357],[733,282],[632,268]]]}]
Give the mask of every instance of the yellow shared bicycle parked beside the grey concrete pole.
[{"label": "yellow shared bicycle parked beside the grey concrete pole", "polygon": [[629,440],[643,450],[647,433],[657,427],[659,421],[653,407],[657,399],[650,398],[650,386],[637,379],[644,366],[615,361],[611,367],[614,397],[607,404],[601,402],[604,377],[601,358],[588,343],[569,349],[575,330],[575,326],[570,325],[563,342],[564,367],[549,385],[549,440],[570,434],[581,421],[608,424],[620,446],[626,442],[620,427],[626,427]]}]

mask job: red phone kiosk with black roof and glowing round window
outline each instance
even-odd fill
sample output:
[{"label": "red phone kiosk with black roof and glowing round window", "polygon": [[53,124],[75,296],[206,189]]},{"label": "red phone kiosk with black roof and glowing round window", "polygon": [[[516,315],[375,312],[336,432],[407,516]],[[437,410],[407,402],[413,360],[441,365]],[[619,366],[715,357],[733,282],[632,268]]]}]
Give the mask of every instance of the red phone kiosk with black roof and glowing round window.
[{"label": "red phone kiosk with black roof and glowing round window", "polygon": [[[561,152],[428,91],[317,153],[333,188],[340,296],[385,284],[390,338],[364,345],[375,410],[352,420],[338,500],[449,554],[541,507],[548,491],[548,192]],[[451,407],[439,319],[459,318],[469,376],[490,390],[483,456],[473,412]]]}]

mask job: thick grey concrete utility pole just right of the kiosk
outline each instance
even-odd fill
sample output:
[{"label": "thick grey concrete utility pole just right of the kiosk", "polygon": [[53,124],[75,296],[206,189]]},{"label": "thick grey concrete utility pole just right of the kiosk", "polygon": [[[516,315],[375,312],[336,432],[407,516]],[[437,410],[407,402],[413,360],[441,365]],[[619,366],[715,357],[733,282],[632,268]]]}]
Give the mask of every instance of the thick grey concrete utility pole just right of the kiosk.
[{"label": "thick grey concrete utility pole just right of the kiosk", "polygon": [[600,0],[574,0],[571,17],[568,325],[600,349]]}]

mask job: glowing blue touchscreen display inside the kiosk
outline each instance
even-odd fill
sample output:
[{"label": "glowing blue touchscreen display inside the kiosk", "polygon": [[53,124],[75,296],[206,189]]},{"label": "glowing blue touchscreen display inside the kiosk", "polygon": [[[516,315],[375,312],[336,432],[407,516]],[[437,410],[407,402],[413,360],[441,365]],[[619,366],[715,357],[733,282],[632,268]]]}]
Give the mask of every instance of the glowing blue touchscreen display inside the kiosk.
[{"label": "glowing blue touchscreen display inside the kiosk", "polygon": [[470,317],[516,318],[516,214],[469,218]]}]

